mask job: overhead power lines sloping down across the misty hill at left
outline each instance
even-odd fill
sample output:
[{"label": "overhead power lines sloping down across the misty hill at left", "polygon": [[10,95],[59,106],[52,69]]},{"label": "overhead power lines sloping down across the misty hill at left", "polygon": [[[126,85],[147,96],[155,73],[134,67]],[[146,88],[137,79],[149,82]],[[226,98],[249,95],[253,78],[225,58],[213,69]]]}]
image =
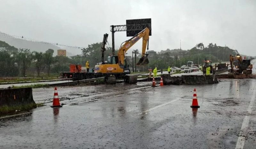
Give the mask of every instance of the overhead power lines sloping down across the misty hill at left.
[{"label": "overhead power lines sloping down across the misty hill at left", "polygon": [[64,47],[68,47],[68,48],[78,48],[78,49],[85,48],[85,47],[69,46],[69,45],[59,44],[58,42],[52,43],[52,42],[39,41],[39,40],[24,37],[24,36],[17,36],[17,35],[5,34],[5,33],[0,33],[0,36],[4,37],[4,38],[11,38],[11,39],[16,39],[16,40],[25,40],[25,41],[33,41],[33,42],[44,43],[44,44],[51,44],[51,45],[56,45],[56,46],[64,46]]}]

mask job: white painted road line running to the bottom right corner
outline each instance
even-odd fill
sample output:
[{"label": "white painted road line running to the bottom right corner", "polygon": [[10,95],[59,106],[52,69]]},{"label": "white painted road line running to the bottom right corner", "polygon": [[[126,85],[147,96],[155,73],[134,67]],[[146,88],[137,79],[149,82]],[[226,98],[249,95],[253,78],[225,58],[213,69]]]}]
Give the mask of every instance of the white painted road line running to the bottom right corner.
[{"label": "white painted road line running to the bottom right corner", "polygon": [[244,148],[245,137],[243,137],[243,130],[246,130],[248,128],[250,115],[252,113],[252,107],[253,107],[253,104],[254,104],[254,101],[255,101],[255,95],[256,95],[256,92],[254,90],[253,95],[252,95],[252,99],[251,99],[250,104],[249,104],[248,109],[247,109],[249,115],[244,116],[244,121],[242,123],[240,133],[239,133],[239,137],[238,137],[237,142],[236,142],[236,149],[243,149]]}]

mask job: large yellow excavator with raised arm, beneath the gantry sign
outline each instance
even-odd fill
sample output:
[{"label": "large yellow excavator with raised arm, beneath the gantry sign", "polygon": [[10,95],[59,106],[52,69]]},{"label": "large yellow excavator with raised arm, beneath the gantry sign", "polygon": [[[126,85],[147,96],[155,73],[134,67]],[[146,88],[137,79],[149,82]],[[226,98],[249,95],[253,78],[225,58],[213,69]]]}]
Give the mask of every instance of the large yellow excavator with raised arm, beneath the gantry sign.
[{"label": "large yellow excavator with raised arm, beneath the gantry sign", "polygon": [[[142,38],[142,51],[141,58],[137,65],[146,65],[148,64],[148,54],[146,54],[146,48],[148,45],[149,39],[149,29],[146,27],[140,33],[133,36],[131,39],[124,41],[117,53],[117,56],[108,56],[107,63],[101,63],[95,65],[94,73],[97,76],[115,76],[115,78],[124,78],[125,82],[133,83],[135,82],[135,78],[137,81],[137,76],[128,75],[131,73],[129,69],[129,65],[125,59],[125,53],[128,49],[130,49],[137,41]],[[148,48],[147,48],[148,49]]]}]

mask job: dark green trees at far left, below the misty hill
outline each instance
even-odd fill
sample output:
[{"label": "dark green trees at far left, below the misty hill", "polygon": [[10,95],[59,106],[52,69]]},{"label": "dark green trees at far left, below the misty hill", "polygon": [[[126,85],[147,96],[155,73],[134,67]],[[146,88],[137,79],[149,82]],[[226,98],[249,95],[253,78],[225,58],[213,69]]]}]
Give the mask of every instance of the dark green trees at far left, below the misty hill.
[{"label": "dark green trees at far left, below the misty hill", "polygon": [[54,50],[45,52],[18,49],[0,41],[0,76],[40,76],[42,72],[50,75],[59,71],[69,71],[69,64],[76,59],[66,56],[53,56]]}]

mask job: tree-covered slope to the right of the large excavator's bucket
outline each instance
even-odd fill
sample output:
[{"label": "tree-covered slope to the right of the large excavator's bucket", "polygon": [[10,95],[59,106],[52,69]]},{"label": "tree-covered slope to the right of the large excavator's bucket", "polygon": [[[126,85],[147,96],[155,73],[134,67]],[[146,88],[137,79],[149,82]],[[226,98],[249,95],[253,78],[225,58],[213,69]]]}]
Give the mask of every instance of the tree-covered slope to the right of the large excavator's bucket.
[{"label": "tree-covered slope to the right of the large excavator's bucket", "polygon": [[[194,64],[203,64],[204,60],[211,60],[212,62],[227,62],[230,54],[236,54],[237,51],[228,47],[217,46],[216,43],[209,43],[204,46],[203,43],[196,44],[195,47],[189,50],[180,50],[180,52],[166,52],[154,54],[149,57],[148,68],[167,69],[170,67],[180,67],[186,65],[188,61],[193,61]],[[140,67],[141,68],[141,67]]]}]

